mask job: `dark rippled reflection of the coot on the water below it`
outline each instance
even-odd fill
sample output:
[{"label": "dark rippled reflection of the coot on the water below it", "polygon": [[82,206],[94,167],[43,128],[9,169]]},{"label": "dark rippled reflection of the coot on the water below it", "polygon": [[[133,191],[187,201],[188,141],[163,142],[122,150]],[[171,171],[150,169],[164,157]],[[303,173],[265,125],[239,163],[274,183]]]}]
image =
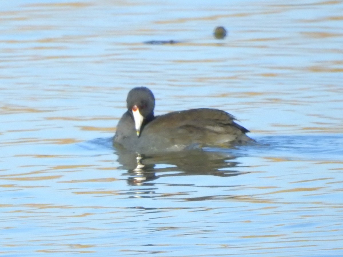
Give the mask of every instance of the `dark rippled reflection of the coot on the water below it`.
[{"label": "dark rippled reflection of the coot on the water below it", "polygon": [[234,161],[236,156],[223,151],[197,149],[137,154],[117,147],[115,153],[118,156],[118,162],[122,165],[118,168],[128,171],[126,173],[129,176],[128,184],[136,186],[154,185],[149,182],[166,176],[236,176],[246,173],[234,170],[233,168],[239,164]]}]

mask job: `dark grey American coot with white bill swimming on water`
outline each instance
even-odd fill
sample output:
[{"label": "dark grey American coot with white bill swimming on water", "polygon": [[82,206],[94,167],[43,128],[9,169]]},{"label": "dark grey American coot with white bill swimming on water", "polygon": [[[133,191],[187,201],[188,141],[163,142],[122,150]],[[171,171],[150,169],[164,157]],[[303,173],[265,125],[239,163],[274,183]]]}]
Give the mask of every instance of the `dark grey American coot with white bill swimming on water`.
[{"label": "dark grey American coot with white bill swimming on water", "polygon": [[146,87],[131,89],[126,101],[128,111],[117,125],[113,142],[130,151],[179,151],[253,141],[245,134],[249,131],[225,111],[200,108],[155,117],[155,97]]}]

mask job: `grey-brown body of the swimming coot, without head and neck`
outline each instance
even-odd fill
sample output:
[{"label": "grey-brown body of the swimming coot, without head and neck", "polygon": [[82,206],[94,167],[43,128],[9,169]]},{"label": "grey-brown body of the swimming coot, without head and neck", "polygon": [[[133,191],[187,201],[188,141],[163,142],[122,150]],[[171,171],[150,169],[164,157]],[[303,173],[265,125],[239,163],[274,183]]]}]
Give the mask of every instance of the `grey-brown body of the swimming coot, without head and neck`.
[{"label": "grey-brown body of the swimming coot, without head and neck", "polygon": [[140,137],[132,128],[125,132],[125,138],[117,137],[117,142],[138,152],[178,151],[203,146],[228,147],[247,142],[252,140],[245,135],[247,132],[229,113],[201,108],[159,115],[143,127]]}]

